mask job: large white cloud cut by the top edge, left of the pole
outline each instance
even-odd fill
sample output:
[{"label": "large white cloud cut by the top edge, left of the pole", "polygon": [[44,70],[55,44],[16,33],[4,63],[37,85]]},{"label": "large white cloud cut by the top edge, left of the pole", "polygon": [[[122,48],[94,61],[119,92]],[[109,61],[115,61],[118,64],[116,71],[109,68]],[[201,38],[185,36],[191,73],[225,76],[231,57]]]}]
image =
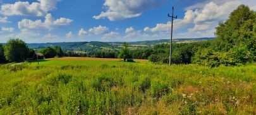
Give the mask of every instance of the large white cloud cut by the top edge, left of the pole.
[{"label": "large white cloud cut by the top edge, left of the pole", "polygon": [[161,6],[167,0],[106,0],[104,6],[107,11],[101,12],[101,15],[93,16],[96,20],[108,18],[111,21],[123,20],[142,15],[143,11]]}]

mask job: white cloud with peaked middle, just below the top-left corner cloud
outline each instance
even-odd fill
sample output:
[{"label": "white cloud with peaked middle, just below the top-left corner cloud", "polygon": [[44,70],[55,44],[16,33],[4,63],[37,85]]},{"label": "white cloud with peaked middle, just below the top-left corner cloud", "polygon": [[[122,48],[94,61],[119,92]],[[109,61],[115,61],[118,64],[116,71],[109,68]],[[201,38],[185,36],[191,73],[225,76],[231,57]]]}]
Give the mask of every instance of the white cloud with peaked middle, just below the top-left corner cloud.
[{"label": "white cloud with peaked middle, just below the top-left corner cloud", "polygon": [[69,25],[73,20],[67,18],[59,18],[54,20],[51,14],[47,14],[44,22],[42,20],[28,20],[23,19],[18,22],[18,28],[20,29],[49,29],[51,30],[54,27],[61,25]]}]

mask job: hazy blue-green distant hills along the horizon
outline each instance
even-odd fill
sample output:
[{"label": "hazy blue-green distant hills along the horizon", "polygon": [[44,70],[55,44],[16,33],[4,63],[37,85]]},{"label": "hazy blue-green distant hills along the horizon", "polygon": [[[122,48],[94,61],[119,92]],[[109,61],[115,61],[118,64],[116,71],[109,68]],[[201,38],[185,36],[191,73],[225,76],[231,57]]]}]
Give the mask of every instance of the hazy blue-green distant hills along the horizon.
[{"label": "hazy blue-green distant hills along the horizon", "polygon": [[[210,40],[214,39],[212,37],[204,37],[197,39],[174,39],[173,43],[189,43],[189,42],[197,42],[201,40]],[[162,40],[145,40],[138,42],[128,42],[130,44],[131,49],[142,49],[153,47],[157,44],[169,44],[169,39]],[[54,45],[59,45],[63,48],[64,51],[118,51],[123,42],[56,42],[56,43],[35,43],[28,44],[28,47],[32,49],[43,49],[44,47],[51,47]],[[4,44],[3,44],[4,45]]]}]

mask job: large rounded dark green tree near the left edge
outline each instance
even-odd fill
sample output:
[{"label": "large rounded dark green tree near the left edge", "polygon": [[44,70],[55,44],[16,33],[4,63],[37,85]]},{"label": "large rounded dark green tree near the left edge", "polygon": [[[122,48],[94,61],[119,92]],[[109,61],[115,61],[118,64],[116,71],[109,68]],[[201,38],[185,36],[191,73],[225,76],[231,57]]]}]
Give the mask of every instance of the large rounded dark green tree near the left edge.
[{"label": "large rounded dark green tree near the left edge", "polygon": [[11,39],[5,46],[4,56],[10,62],[21,62],[28,58],[28,46],[20,39]]}]

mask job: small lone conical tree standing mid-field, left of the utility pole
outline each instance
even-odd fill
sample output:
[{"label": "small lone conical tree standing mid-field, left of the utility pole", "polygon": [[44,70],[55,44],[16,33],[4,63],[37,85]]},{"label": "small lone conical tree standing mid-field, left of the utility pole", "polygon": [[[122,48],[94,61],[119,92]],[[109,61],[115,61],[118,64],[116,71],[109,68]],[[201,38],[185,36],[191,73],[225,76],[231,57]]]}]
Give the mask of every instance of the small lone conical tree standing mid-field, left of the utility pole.
[{"label": "small lone conical tree standing mid-field, left of the utility pole", "polygon": [[123,58],[124,61],[126,61],[127,59],[131,59],[131,54],[130,54],[130,50],[128,49],[128,43],[124,42],[123,43],[123,48],[121,49],[121,52],[119,53],[118,58]]}]

